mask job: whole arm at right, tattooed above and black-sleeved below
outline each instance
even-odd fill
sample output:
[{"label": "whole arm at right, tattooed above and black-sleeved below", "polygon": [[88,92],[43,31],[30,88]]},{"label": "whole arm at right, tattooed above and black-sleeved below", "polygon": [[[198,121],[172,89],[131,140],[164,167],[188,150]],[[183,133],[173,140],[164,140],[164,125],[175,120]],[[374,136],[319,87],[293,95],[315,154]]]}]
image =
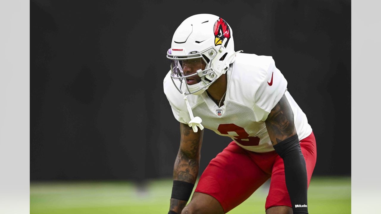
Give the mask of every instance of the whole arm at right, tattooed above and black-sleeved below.
[{"label": "whole arm at right, tattooed above and black-sleeved below", "polygon": [[265,123],[272,145],[283,159],[286,187],[293,213],[308,214],[306,161],[296,134],[294,114],[284,94]]}]

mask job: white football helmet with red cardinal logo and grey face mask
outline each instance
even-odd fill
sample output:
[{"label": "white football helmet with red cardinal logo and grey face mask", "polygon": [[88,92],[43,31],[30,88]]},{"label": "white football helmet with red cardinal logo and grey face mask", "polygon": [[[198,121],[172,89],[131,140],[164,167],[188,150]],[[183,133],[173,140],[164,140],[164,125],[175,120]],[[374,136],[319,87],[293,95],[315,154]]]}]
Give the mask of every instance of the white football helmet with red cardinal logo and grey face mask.
[{"label": "white football helmet with red cardinal logo and grey face mask", "polygon": [[[232,29],[224,19],[211,14],[191,16],[185,19],[174,32],[171,48],[167,52],[166,57],[171,60],[173,84],[182,94],[202,94],[222,74],[226,73],[238,52],[234,52]],[[182,65],[189,60],[200,62],[198,66],[200,68],[202,68],[201,64],[206,64],[205,68],[186,75]],[[201,78],[201,81],[188,85],[187,78],[196,75]],[[180,81],[179,87],[175,80]],[[183,83],[187,90],[184,92],[181,89]]]}]

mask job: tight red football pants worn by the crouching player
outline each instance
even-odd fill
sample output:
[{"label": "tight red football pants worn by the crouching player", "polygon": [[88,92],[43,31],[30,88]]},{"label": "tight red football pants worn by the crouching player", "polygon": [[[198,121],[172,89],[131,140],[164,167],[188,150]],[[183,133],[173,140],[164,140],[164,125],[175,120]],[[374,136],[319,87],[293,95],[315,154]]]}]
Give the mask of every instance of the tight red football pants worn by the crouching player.
[{"label": "tight red football pants worn by the crouching player", "polygon": [[[314,133],[300,141],[306,160],[308,186],[316,163]],[[213,158],[202,173],[195,192],[213,196],[225,212],[238,206],[271,177],[265,209],[291,207],[283,159],[275,152],[250,152],[231,142]]]}]

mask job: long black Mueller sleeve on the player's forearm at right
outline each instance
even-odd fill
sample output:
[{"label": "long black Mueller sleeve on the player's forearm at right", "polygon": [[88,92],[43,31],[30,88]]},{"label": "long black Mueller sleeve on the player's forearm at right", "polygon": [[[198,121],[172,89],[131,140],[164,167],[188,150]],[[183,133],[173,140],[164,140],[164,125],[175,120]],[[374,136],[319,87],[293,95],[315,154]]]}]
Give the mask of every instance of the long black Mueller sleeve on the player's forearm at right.
[{"label": "long black Mueller sleeve on the player's forearm at right", "polygon": [[275,144],[274,149],[285,165],[286,186],[293,213],[308,213],[306,161],[300,149],[298,135]]}]

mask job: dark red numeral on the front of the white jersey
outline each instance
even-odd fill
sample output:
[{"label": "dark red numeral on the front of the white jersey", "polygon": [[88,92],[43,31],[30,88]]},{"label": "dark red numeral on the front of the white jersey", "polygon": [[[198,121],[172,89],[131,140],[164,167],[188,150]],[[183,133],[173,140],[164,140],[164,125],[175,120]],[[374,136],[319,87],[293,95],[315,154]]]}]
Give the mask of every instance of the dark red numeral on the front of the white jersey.
[{"label": "dark red numeral on the front of the white jersey", "polygon": [[217,130],[221,134],[229,134],[228,132],[234,131],[238,134],[238,136],[234,136],[235,141],[239,142],[241,145],[251,146],[259,144],[259,137],[249,137],[249,134],[245,131],[245,129],[233,123],[220,124]]}]

